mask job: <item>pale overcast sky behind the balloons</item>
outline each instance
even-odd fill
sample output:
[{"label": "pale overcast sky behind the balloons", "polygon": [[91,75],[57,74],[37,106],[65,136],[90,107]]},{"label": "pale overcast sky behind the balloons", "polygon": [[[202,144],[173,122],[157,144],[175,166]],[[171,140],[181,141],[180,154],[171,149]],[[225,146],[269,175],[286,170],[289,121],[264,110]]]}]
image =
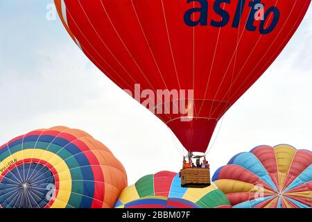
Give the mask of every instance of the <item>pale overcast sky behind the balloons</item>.
[{"label": "pale overcast sky behind the balloons", "polygon": [[[73,43],[52,0],[0,0],[0,144],[37,128],[79,128],[123,163],[132,184],[179,171],[182,147],[153,114],[116,87]],[[211,173],[254,146],[312,149],[312,8],[275,63],[225,114]],[[218,131],[218,129],[217,129]]]}]

